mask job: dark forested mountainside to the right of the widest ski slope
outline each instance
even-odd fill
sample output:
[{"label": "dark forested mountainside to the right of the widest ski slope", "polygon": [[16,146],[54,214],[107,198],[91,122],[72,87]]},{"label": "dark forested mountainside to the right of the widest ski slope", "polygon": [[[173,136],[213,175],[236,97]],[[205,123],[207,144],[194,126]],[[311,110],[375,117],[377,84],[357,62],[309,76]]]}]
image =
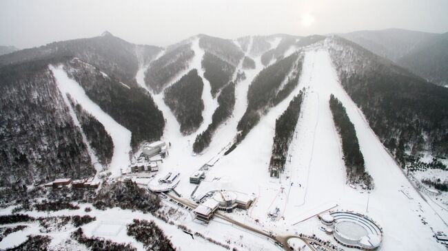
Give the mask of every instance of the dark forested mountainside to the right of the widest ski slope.
[{"label": "dark forested mountainside to the right of the widest ski slope", "polygon": [[[448,157],[448,89],[355,43],[338,37],[335,41],[329,52],[340,83],[400,165],[411,167],[424,151]],[[350,50],[341,50],[341,45]],[[360,61],[364,63],[356,63]]]}]

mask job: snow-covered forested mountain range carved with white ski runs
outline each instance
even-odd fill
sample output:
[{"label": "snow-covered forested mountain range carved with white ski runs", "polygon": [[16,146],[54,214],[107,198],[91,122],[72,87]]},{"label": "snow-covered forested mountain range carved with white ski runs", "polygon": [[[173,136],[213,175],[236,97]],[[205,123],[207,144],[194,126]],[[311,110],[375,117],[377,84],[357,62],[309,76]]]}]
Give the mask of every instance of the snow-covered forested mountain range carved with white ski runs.
[{"label": "snow-covered forested mountain range carved with white ski runs", "polygon": [[[386,33],[398,47],[417,47],[398,37],[433,37],[396,32]],[[372,37],[377,36],[350,34],[359,41]],[[43,212],[32,211],[32,205],[41,203],[47,210],[54,205],[30,199],[63,200],[82,215],[93,205],[89,214],[98,217],[99,225],[76,232],[71,226],[49,230],[82,245],[101,242],[89,238],[108,232],[99,228],[117,221],[121,228],[128,225],[128,232],[110,223],[118,232],[115,237],[105,234],[106,239],[131,244],[108,245],[151,249],[139,241],[152,237],[141,233],[159,230],[154,222],[130,223],[138,217],[154,219],[170,233],[156,234],[163,243],[154,245],[160,247],[190,250],[185,247],[196,245],[179,232],[195,232],[195,238],[208,240],[197,243],[207,250],[272,250],[265,237],[287,248],[282,238],[297,232],[312,235],[316,222],[308,219],[316,213],[336,207],[361,212],[367,199],[366,213],[383,226],[385,250],[440,249],[431,234],[432,228],[447,230],[447,195],[442,193],[439,203],[416,187],[442,190],[448,183],[448,88],[394,63],[411,49],[389,51],[375,45],[372,52],[363,46],[340,36],[274,34],[230,40],[198,34],[161,48],[134,45],[105,32],[0,56],[0,201],[23,202],[22,209],[34,217]],[[143,144],[156,140],[167,144],[163,159],[152,160],[160,175],[148,179],[151,174],[125,173]],[[196,186],[188,177],[199,168],[207,177]],[[427,175],[434,170],[440,171],[440,179]],[[99,191],[27,188],[63,177],[102,180],[102,171],[110,179]],[[167,173],[181,175],[175,193],[183,200],[178,203],[191,208],[196,204],[190,199],[218,190],[243,191],[256,199],[246,213],[224,215],[207,228],[190,219],[185,208],[173,210],[169,201],[147,193],[148,180]],[[136,183],[116,182],[126,179]],[[71,201],[87,204],[76,208]],[[116,206],[123,211],[107,209]],[[263,238],[260,232],[242,234],[227,221],[266,232]],[[37,232],[33,224],[25,231]],[[209,231],[218,228],[223,231]],[[327,239],[322,231],[315,235]],[[222,243],[213,241],[223,238]],[[62,245],[60,239],[47,245]],[[10,247],[0,241],[0,249]]]}]

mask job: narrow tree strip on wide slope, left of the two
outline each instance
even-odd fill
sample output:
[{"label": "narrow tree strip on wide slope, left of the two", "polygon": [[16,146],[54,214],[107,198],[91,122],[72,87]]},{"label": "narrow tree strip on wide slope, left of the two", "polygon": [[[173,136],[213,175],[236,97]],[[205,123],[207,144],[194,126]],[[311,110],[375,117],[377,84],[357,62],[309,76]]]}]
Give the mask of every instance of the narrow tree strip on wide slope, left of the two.
[{"label": "narrow tree strip on wide slope, left of the two", "polygon": [[303,96],[305,90],[295,96],[285,111],[276,119],[274,142],[272,142],[272,155],[269,162],[269,173],[272,176],[279,177],[285,170],[285,163],[289,144],[291,144],[298,116],[301,113]]}]

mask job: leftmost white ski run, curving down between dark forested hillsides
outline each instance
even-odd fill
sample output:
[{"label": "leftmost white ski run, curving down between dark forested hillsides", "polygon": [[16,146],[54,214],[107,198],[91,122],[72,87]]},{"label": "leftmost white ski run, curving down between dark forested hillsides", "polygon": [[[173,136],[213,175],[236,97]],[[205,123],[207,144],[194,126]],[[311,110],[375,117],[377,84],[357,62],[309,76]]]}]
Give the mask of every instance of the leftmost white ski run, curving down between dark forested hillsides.
[{"label": "leftmost white ski run, curving down between dark forested hillsides", "polygon": [[[109,171],[112,173],[111,177],[119,177],[121,175],[121,169],[128,168],[130,164],[131,132],[117,123],[108,113],[105,113],[98,105],[90,100],[85,94],[83,87],[68,77],[62,65],[58,67],[50,65],[50,70],[56,79],[57,86],[63,94],[64,100],[66,100],[65,102],[68,102],[66,94],[70,94],[85,111],[88,111],[96,120],[103,124],[105,131],[109,133],[112,142],[114,142],[114,154],[112,155]],[[70,106],[70,103],[68,106]]]}]

